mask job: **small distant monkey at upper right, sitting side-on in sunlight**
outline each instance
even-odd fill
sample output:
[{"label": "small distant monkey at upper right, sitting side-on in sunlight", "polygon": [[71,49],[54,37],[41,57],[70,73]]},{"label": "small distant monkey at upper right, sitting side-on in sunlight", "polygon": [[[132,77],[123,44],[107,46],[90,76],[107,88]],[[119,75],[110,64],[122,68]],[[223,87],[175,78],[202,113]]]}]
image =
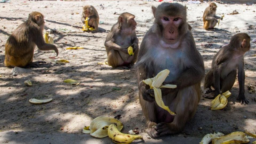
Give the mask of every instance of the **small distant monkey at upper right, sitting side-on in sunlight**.
[{"label": "small distant monkey at upper right, sitting side-on in sunlight", "polygon": [[203,13],[203,28],[205,30],[212,29],[218,23],[218,19],[223,19],[215,15],[217,5],[215,3],[210,3],[208,7],[206,7],[205,12]]}]

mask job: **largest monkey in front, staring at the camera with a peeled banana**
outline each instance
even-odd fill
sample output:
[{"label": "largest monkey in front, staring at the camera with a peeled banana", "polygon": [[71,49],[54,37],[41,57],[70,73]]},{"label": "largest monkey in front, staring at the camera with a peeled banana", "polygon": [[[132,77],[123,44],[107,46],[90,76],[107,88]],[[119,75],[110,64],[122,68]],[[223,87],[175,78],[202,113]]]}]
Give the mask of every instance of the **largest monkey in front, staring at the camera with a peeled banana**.
[{"label": "largest monkey in front, staring at the camera with a peeled banana", "polygon": [[[154,25],[144,36],[138,54],[137,76],[139,101],[146,117],[147,133],[153,137],[174,134],[182,130],[197,109],[201,96],[200,83],[204,64],[186,22],[186,6],[162,3],[152,6]],[[154,91],[141,82],[160,71],[169,69],[164,84],[177,85],[176,89],[162,88],[165,105],[177,115],[159,107]],[[153,95],[153,96],[152,96]]]}]

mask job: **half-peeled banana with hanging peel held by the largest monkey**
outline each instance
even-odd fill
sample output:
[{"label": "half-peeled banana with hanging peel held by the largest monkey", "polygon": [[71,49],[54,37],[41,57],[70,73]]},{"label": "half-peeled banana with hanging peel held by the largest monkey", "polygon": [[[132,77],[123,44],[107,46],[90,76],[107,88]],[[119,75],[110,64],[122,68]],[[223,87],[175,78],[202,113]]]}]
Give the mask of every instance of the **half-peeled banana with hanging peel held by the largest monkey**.
[{"label": "half-peeled banana with hanging peel held by the largest monkey", "polygon": [[162,99],[162,91],[160,88],[170,88],[170,89],[175,89],[177,86],[176,85],[162,85],[162,83],[165,81],[166,77],[169,75],[170,71],[165,69],[160,71],[155,77],[153,78],[148,78],[143,80],[145,84],[150,86],[150,89],[154,90],[155,94],[155,101],[157,102],[157,105],[166,111],[168,111],[171,115],[176,115],[173,111],[169,109],[168,106],[166,106],[163,103]]}]

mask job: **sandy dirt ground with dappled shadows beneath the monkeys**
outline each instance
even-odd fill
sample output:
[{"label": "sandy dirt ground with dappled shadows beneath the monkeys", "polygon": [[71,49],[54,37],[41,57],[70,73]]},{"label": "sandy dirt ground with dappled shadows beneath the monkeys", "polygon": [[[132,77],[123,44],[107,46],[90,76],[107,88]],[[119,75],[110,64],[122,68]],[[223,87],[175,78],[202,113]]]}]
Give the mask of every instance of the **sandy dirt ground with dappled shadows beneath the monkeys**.
[{"label": "sandy dirt ground with dappled shadows beneath the monkeys", "polygon": [[[82,134],[82,128],[90,125],[92,119],[98,116],[115,117],[120,114],[119,120],[124,125],[123,133],[138,128],[145,143],[149,142],[150,139],[145,132],[145,117],[138,99],[135,70],[112,69],[108,65],[97,63],[107,58],[104,42],[111,26],[117,22],[118,14],[129,12],[136,16],[135,20],[138,24],[136,33],[140,44],[154,21],[151,6],[160,3],[142,0],[11,0],[9,3],[0,3],[0,132],[72,133],[85,136]],[[179,3],[186,4],[186,2]],[[86,4],[95,6],[100,21],[103,22],[99,24],[98,33],[80,30],[82,6]],[[203,57],[206,73],[210,69],[213,56],[221,46],[229,43],[232,35],[245,32],[250,35],[251,40],[256,38],[255,4],[217,3],[217,15],[224,14],[225,17],[220,21],[218,28],[206,31],[202,27],[202,15],[208,5],[208,3],[187,4],[187,21],[192,26],[192,34],[197,49]],[[239,14],[227,15],[234,10]],[[47,63],[38,68],[30,68],[33,71],[31,73],[13,76],[13,68],[7,68],[3,63],[5,42],[17,26],[26,21],[32,11],[39,11],[45,15],[45,30],[58,30],[51,35],[54,36],[54,44],[58,47],[59,55],[55,57],[54,51],[40,51],[36,48],[34,61],[44,60]],[[66,50],[66,47],[70,46],[81,46],[85,49]],[[251,50],[245,54],[245,96],[250,101],[249,105],[241,105],[236,101],[239,91],[236,80],[230,90],[232,95],[228,98],[228,105],[223,110],[210,110],[211,100],[201,97],[194,118],[186,124],[181,133],[174,136],[201,139],[205,134],[214,131],[228,134],[244,130],[255,134],[256,96],[255,93],[249,94],[247,90],[249,84],[256,86],[255,46],[256,44],[251,42]],[[70,63],[59,65],[51,57],[66,59]],[[68,85],[63,82],[67,78],[81,83],[77,86]],[[33,86],[25,86],[25,80],[32,81]],[[203,83],[204,79],[201,89]],[[121,90],[112,91],[113,88]],[[34,105],[29,103],[30,98],[53,98],[53,101]],[[6,139],[8,137],[2,136],[0,143],[9,141],[22,143],[22,141]],[[97,143],[111,143],[111,141],[104,138]]]}]

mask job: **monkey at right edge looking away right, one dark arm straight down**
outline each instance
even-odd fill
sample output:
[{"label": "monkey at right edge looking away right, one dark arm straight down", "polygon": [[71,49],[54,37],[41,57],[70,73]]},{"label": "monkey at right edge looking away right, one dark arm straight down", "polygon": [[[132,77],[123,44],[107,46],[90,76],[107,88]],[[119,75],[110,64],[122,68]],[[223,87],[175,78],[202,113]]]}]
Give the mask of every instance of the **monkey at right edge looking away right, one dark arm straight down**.
[{"label": "monkey at right edge looking away right, one dark arm straight down", "polygon": [[[214,56],[211,69],[205,76],[203,97],[215,98],[232,88],[237,77],[239,94],[237,100],[248,104],[245,98],[245,71],[243,55],[250,50],[250,37],[246,33],[235,34],[228,45],[223,46]],[[211,89],[211,86],[215,89]]]}]

